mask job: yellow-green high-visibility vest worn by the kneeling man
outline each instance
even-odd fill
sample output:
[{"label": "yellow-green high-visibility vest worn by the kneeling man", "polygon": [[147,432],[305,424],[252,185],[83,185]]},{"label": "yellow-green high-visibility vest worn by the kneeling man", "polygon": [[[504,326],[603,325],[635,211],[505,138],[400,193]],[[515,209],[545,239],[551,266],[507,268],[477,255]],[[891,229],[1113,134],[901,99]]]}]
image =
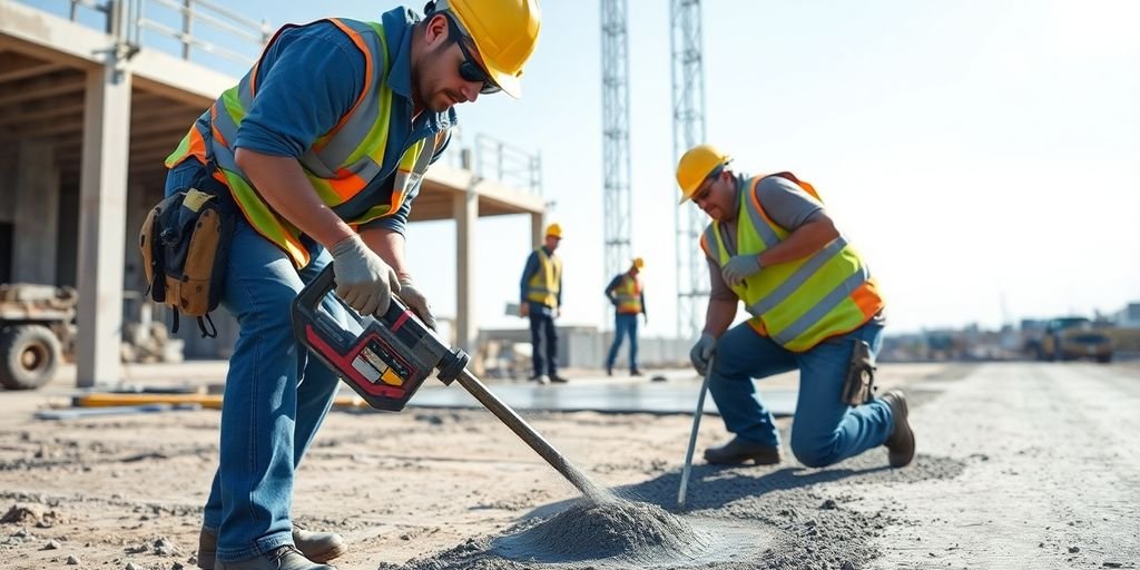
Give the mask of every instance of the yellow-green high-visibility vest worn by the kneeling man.
[{"label": "yellow-green high-visibility vest worn by the kneeling man", "polygon": [[[791,172],[773,176],[819,198],[812,185]],[[714,221],[701,236],[705,253],[720,267],[733,255],[759,255],[788,238],[789,231],[772,221],[756,198],[764,178],[740,178],[735,235]],[[765,267],[732,291],[752,315],[749,323],[758,333],[795,352],[858,328],[885,306],[866,264],[842,236],[806,258]]]}]

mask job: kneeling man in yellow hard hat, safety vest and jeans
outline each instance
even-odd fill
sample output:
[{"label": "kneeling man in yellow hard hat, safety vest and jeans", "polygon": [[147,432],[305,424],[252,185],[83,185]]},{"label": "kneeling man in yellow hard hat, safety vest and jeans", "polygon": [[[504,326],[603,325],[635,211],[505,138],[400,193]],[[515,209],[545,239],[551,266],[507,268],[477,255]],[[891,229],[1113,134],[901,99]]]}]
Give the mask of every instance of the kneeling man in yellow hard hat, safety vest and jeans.
[{"label": "kneeling man in yellow hard hat, safety vest and jeans", "polygon": [[[779,463],[779,433],[752,378],[799,369],[791,450],[800,463],[831,465],[885,445],[893,467],[909,464],[914,433],[901,391],[854,407],[842,401],[853,352],[873,359],[882,343],[885,303],[866,263],[809,184],[790,172],[739,174],[728,162],[701,145],[677,164],[681,203],[691,199],[712,219],[700,242],[712,288],[690,357],[711,374],[709,390],[735,434],[705,458]],[[728,329],[738,301],[752,318]]]}]

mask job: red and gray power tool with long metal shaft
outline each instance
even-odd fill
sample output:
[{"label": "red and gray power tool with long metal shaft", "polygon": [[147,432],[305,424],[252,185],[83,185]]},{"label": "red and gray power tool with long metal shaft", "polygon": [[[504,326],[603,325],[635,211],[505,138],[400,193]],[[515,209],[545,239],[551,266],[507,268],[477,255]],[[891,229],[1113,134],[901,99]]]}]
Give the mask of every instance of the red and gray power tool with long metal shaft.
[{"label": "red and gray power tool with long metal shaft", "polygon": [[439,370],[439,380],[448,385],[458,380],[459,385],[586,496],[595,499],[605,496],[604,490],[467,372],[466,352],[445,344],[398,299],[392,299],[388,312],[377,320],[363,318],[345,307],[359,332],[320,309],[321,300],[335,285],[329,263],[293,301],[293,332],[301,344],[336,370],[369,406],[389,412],[404,409],[423,381]]}]

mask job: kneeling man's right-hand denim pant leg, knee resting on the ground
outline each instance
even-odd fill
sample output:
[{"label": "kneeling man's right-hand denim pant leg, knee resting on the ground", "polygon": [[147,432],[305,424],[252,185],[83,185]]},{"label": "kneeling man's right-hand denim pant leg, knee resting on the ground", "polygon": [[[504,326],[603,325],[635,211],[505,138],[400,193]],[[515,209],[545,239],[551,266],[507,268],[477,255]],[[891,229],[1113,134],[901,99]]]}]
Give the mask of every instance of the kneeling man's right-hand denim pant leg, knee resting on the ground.
[{"label": "kneeling man's right-hand denim pant leg, knee resting on the ground", "polygon": [[858,455],[881,446],[890,435],[894,424],[887,402],[874,399],[853,408],[840,401],[856,339],[870,344],[872,356],[877,355],[882,347],[882,326],[866,324],[796,355],[800,377],[791,450],[809,467]]}]

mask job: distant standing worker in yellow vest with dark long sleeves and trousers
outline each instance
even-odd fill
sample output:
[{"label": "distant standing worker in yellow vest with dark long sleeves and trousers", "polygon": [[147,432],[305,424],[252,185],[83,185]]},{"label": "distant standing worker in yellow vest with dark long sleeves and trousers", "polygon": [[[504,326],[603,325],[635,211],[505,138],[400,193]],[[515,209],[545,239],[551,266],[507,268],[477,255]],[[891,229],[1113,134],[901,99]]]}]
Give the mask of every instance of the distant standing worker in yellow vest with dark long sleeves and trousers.
[{"label": "distant standing worker in yellow vest with dark long sleeves and trousers", "polygon": [[559,376],[559,333],[554,319],[562,314],[562,259],[554,255],[562,241],[562,226],[546,227],[543,245],[527,258],[519,284],[519,315],[530,318],[531,360],[539,384],[565,383]]}]

